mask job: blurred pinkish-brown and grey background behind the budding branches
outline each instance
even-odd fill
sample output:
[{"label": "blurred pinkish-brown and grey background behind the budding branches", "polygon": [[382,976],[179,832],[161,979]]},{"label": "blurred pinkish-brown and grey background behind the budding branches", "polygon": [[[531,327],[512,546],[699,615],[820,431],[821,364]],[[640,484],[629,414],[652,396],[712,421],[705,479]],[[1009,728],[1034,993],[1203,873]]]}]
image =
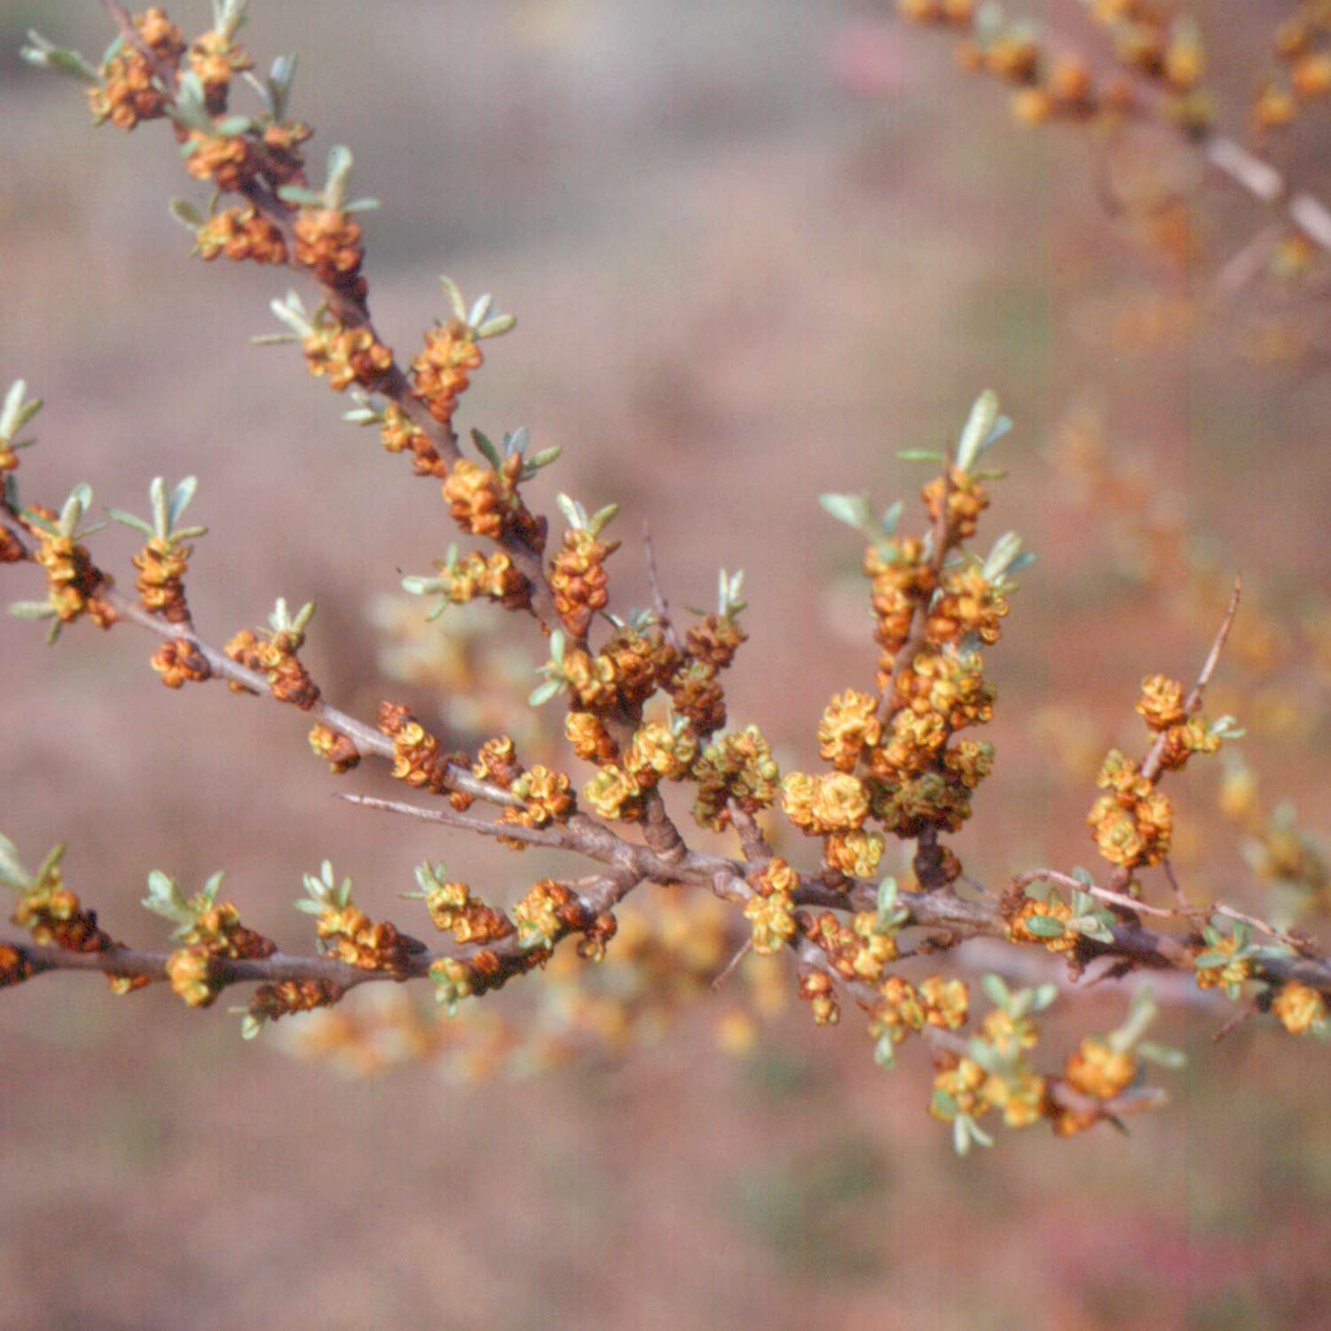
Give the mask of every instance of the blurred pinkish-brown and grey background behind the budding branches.
[{"label": "blurred pinkish-brown and grey background behind the budding branches", "polygon": [[[1250,8],[1201,16],[1238,128],[1263,40]],[[172,15],[206,23],[201,3]],[[25,499],[87,479],[98,504],[141,511],[150,476],[196,473],[201,630],[220,642],[277,595],[313,598],[307,659],[331,699],[435,716],[383,683],[365,618],[395,570],[425,571],[453,539],[435,488],[343,426],[350,403],[295,351],[246,343],[291,274],[188,261],[165,200],[192,182],[166,132],[95,133],[76,87],[17,61],[29,25],[89,55],[106,39],[92,0],[0,4],[0,377],[48,402]],[[265,67],[299,51],[311,161],[353,145],[354,190],[385,201],[367,270],[399,354],[443,313],[441,270],[519,315],[459,422],[563,445],[544,504],[559,488],[624,504],[620,604],[647,599],[644,519],[676,604],[709,603],[717,564],[748,570],[731,716],[788,763],[813,759],[828,693],[872,671],[841,582],[857,548],[817,494],[909,495],[921,478],[896,450],[1000,391],[1017,429],[988,534],[1017,527],[1041,562],[990,655],[998,767],[957,843],[977,877],[1090,862],[1090,779],[1067,776],[1050,729],[1138,744],[1139,677],[1194,671],[1222,608],[1181,614],[1174,588],[1125,572],[1047,459],[1071,409],[1102,411],[1169,520],[1219,576],[1242,570],[1272,619],[1326,587],[1327,377],[1270,363],[1259,294],[1210,303],[1256,206],[1207,189],[1194,257],[1143,250],[1142,226],[1101,206],[1085,136],[1013,128],[1004,92],[957,75],[944,39],[849,0],[256,0],[245,37]],[[1290,149],[1314,181],[1326,144],[1314,124]],[[1195,168],[1142,136],[1110,169],[1131,198]],[[1185,297],[1198,313],[1179,326]],[[96,550],[130,580],[126,532]],[[7,571],[5,599],[36,591]],[[217,687],[164,692],[133,628],[40,639],[0,622],[0,828],[29,862],[68,837],[71,885],[118,937],[165,937],[137,906],[152,866],[189,885],[225,866],[246,920],[293,949],[307,930],[289,901],[325,856],[405,928],[419,908],[394,897],[426,855],[502,898],[568,872],[349,812],[297,716]],[[1324,684],[1295,701],[1320,716]],[[1067,711],[1037,724],[1050,703]],[[1326,739],[1310,721],[1246,744],[1314,827]],[[1206,829],[1190,885],[1255,902],[1239,837],[1209,821],[1215,775],[1171,787]],[[343,1078],[286,1057],[277,1032],[242,1045],[225,1006],[116,1000],[76,976],[0,1001],[5,1331],[1331,1316],[1324,1054],[1247,1028],[1213,1049],[1214,1009],[1170,1009],[1162,1036],[1191,1067],[1130,1139],[1032,1130],[957,1161],[924,1114],[920,1050],[878,1071],[856,1013],[815,1032],[792,1009],[743,1061],[700,1013],[622,1063],[457,1086],[434,1066]],[[1050,1051],[1123,1010],[1102,990],[1061,1006]]]}]

